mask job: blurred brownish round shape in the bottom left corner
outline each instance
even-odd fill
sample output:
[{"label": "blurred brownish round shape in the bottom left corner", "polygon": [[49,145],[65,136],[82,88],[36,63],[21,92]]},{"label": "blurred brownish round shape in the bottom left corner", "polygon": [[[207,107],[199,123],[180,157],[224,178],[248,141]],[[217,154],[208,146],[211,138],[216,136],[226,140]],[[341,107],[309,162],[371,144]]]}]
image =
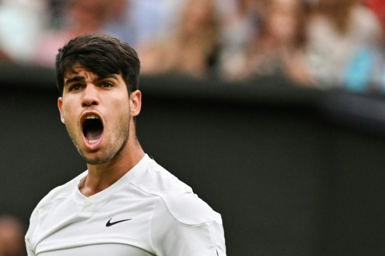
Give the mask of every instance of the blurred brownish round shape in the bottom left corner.
[{"label": "blurred brownish round shape in the bottom left corner", "polygon": [[0,256],[27,255],[24,236],[26,230],[15,217],[0,216]]}]

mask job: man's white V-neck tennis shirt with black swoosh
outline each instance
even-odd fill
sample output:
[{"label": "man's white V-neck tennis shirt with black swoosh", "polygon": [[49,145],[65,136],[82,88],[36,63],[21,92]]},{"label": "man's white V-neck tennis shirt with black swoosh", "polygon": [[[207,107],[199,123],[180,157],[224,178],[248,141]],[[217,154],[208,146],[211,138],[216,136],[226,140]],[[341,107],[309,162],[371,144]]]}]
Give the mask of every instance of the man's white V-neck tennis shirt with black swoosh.
[{"label": "man's white V-neck tennis shirt with black swoosh", "polygon": [[145,155],[117,182],[85,197],[87,171],[33,210],[28,255],[224,256],[220,214]]}]

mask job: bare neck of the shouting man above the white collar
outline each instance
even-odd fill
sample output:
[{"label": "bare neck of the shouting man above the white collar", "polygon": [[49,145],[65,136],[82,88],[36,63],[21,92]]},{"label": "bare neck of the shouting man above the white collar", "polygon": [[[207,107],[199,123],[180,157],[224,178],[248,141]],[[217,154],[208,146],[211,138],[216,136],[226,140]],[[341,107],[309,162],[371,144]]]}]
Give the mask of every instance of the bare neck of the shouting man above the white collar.
[{"label": "bare neck of the shouting man above the white collar", "polygon": [[90,197],[106,189],[122,178],[143,157],[144,151],[136,137],[129,138],[123,150],[104,164],[87,164],[88,175],[80,186],[80,191]]}]

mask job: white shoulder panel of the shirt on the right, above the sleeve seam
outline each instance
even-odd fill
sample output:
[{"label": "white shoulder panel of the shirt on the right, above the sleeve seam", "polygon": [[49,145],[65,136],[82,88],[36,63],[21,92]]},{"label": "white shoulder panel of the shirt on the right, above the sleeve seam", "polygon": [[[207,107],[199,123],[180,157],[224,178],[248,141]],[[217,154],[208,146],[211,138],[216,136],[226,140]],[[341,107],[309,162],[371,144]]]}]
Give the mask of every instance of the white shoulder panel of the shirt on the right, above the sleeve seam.
[{"label": "white shoulder panel of the shirt on the right, above the sleeve seam", "polygon": [[149,160],[140,179],[133,184],[146,194],[159,197],[167,211],[179,222],[198,225],[211,221],[221,221],[221,216],[200,199],[191,187],[169,173],[165,168]]}]

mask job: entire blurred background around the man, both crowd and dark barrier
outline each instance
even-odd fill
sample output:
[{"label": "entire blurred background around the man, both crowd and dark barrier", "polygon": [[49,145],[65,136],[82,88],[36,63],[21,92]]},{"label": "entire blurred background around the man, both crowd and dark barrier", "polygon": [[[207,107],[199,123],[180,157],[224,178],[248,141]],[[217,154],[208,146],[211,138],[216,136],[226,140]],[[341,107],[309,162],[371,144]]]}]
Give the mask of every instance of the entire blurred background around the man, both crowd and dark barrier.
[{"label": "entire blurred background around the man, both crowd and dark barrier", "polygon": [[385,1],[0,0],[0,256],[86,168],[54,57],[89,32],[138,51],[139,140],[221,213],[228,255],[385,253]]}]

